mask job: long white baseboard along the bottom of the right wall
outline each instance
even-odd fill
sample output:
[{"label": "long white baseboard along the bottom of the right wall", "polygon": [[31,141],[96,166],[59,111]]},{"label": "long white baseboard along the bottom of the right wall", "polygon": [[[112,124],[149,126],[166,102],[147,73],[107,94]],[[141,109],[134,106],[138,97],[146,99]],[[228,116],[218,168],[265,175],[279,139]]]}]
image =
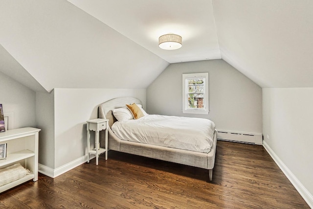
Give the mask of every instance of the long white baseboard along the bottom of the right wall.
[{"label": "long white baseboard along the bottom of the right wall", "polygon": [[301,182],[293,175],[291,170],[279,159],[274,151],[263,141],[263,147],[266,149],[270,157],[275,161],[278,167],[283,171],[285,176],[289,179],[291,184],[307,202],[307,204],[313,209],[313,195],[301,184]]}]

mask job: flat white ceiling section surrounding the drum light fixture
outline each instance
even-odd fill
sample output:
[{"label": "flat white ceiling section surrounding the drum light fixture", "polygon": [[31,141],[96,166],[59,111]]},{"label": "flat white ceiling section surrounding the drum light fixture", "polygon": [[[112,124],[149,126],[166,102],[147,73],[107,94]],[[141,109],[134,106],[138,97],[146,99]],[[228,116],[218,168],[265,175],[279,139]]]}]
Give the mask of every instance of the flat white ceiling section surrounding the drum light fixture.
[{"label": "flat white ceiling section surrounding the drum light fixture", "polygon": [[[169,63],[221,59],[211,0],[68,0]],[[175,33],[182,47],[163,50]]]}]

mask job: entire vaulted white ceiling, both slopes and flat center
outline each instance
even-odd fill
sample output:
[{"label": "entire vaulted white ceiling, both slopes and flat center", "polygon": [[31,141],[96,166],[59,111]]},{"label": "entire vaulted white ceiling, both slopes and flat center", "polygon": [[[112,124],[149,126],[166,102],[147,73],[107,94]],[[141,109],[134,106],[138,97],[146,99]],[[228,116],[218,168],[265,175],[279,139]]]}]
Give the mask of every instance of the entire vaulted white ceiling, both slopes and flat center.
[{"label": "entire vaulted white ceiling, both slopes and flat center", "polygon": [[[0,0],[0,71],[35,91],[146,88],[224,59],[263,88],[313,87],[312,0]],[[157,39],[182,36],[162,50]]]}]

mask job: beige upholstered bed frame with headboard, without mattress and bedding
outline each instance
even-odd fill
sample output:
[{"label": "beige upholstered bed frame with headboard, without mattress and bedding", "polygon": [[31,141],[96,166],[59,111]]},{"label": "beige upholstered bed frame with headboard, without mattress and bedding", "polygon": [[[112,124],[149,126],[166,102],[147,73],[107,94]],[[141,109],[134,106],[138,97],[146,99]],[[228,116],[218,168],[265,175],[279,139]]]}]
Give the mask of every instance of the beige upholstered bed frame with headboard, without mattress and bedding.
[{"label": "beige upholstered bed frame with headboard, without mattress and bedding", "polygon": [[[109,119],[108,149],[208,169],[209,179],[212,181],[217,143],[217,131],[215,129],[213,130],[214,133],[212,136],[212,144],[209,152],[206,152],[207,150],[191,151],[182,148],[173,148],[120,139],[112,131],[112,125],[117,121],[113,116],[112,110],[117,108],[124,108],[126,104],[134,103],[142,105],[141,101],[134,97],[118,97],[99,105],[98,117]],[[105,132],[101,131],[100,144],[104,143],[104,139]]]}]

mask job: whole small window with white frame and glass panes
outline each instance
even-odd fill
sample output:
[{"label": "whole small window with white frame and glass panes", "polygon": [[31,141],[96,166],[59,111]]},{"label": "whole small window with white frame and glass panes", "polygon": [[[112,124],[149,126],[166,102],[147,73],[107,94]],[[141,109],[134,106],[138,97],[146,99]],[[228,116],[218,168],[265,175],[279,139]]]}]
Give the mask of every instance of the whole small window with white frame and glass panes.
[{"label": "whole small window with white frame and glass panes", "polygon": [[182,74],[182,112],[209,114],[209,73]]}]

